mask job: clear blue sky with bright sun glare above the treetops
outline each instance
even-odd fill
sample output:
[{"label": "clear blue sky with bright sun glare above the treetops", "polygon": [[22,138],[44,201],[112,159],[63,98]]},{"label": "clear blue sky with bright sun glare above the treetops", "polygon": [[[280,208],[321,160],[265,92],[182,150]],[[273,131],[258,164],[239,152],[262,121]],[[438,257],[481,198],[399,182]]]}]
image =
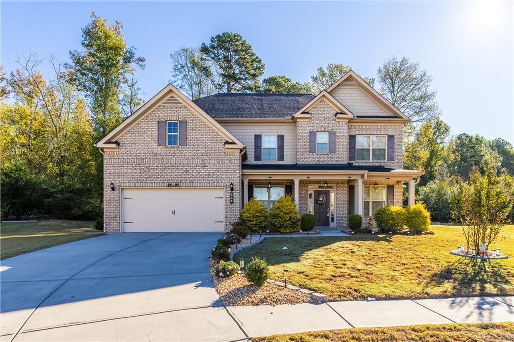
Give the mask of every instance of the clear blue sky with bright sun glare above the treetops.
[{"label": "clear blue sky with bright sun glare above the treetops", "polygon": [[[396,54],[433,77],[443,120],[466,132],[514,142],[511,2],[2,2],[1,57],[50,53],[68,61],[96,11],[120,18],[127,42],[146,59],[138,84],[148,100],[170,79],[169,54],[223,31],[238,32],[265,63],[265,76],[306,82],[317,67],[343,63],[375,77]],[[42,68],[49,72],[47,67]]]}]

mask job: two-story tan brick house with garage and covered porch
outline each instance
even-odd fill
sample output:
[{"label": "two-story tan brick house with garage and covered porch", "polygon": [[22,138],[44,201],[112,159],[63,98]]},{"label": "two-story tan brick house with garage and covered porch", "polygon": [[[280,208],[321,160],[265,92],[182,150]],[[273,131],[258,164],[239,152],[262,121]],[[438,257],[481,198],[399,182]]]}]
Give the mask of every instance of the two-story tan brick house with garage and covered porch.
[{"label": "two-story tan brick house with garage and covered porch", "polygon": [[106,232],[223,231],[252,197],[289,194],[318,226],[402,204],[409,122],[355,72],[317,96],[189,100],[166,86],[102,139]]}]

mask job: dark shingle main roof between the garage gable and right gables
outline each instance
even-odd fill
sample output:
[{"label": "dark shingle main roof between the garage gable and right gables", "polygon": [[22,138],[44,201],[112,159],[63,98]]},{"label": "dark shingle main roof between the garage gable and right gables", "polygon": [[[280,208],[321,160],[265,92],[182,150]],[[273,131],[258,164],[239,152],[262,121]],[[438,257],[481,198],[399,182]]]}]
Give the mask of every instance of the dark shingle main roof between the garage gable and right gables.
[{"label": "dark shingle main roof between the garage gable and right gables", "polygon": [[212,118],[290,118],[314,99],[311,94],[215,94],[194,100]]}]

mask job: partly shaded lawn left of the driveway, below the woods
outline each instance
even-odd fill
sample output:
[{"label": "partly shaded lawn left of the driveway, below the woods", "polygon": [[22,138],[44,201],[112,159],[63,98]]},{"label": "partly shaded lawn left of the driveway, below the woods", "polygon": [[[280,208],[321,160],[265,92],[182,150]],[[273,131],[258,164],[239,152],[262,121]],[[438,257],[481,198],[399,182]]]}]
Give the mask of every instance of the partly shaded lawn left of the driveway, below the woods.
[{"label": "partly shaded lawn left of the driveway, below the woods", "polygon": [[70,220],[2,223],[0,259],[101,235],[93,224],[93,221]]}]

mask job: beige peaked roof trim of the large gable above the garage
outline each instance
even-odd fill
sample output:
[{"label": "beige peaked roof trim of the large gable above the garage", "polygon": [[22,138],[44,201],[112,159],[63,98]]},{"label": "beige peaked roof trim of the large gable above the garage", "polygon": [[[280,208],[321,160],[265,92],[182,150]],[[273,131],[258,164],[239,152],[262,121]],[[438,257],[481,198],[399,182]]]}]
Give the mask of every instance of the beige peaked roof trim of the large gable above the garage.
[{"label": "beige peaked roof trim of the large gable above the garage", "polygon": [[162,103],[169,103],[173,105],[185,105],[193,113],[203,119],[209,124],[215,131],[225,139],[227,139],[230,148],[243,148],[244,144],[232,135],[225,127],[217,123],[212,119],[205,111],[198,107],[194,102],[188,99],[180,90],[178,90],[172,84],[168,84],[162,88],[154,97],[148,102],[144,103],[139,107],[132,115],[126,118],[116,128],[109,132],[102,140],[100,140],[95,146],[98,148],[113,148],[113,141],[118,137],[122,136],[124,132],[136,125],[142,118],[144,118],[152,109]]}]

